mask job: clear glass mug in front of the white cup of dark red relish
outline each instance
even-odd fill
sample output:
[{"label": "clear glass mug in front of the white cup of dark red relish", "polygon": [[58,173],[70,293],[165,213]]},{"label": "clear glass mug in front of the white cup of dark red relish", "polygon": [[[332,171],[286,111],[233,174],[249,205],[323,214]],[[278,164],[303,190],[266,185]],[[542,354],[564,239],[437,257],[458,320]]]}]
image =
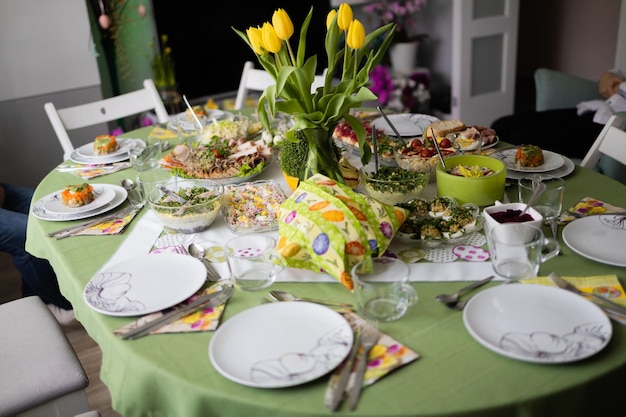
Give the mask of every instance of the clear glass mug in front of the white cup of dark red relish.
[{"label": "clear glass mug in front of the white cup of dark red relish", "polygon": [[537,276],[539,267],[559,254],[556,239],[530,223],[502,223],[491,228],[487,243],[493,270],[509,281]]}]

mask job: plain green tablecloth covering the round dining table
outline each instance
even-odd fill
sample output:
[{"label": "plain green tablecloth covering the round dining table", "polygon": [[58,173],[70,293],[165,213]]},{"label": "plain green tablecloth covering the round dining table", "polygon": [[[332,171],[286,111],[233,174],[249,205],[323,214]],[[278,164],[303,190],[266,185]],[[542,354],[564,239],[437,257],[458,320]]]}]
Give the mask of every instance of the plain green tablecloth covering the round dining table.
[{"label": "plain green tablecloth covering the round dining table", "polygon": [[[144,137],[150,128],[132,132]],[[99,177],[94,183],[119,184],[131,170]],[[594,197],[626,207],[626,187],[596,172],[576,167],[567,178],[565,206]],[[75,183],[69,173],[51,172],[35,192],[35,200]],[[514,188],[509,192],[514,193]],[[515,197],[510,195],[513,200]],[[145,211],[145,210],[144,210]],[[139,216],[143,216],[140,213]],[[332,414],[323,406],[327,378],[285,389],[257,389],[222,377],[208,358],[212,333],[155,335],[123,341],[113,330],[129,318],[106,316],[82,298],[85,284],[107,262],[128,233],[55,240],[45,236],[70,222],[47,222],[31,216],[27,250],[47,258],[78,320],[102,349],[101,378],[111,392],[113,408],[134,416],[318,416]],[[561,228],[560,230],[561,231]],[[563,244],[562,255],[546,262],[540,275],[616,274],[626,283],[626,269],[587,260]],[[626,327],[614,325],[610,343],[591,358],[561,365],[521,362],[491,352],[466,331],[462,313],[435,301],[435,295],[457,289],[458,282],[417,282],[416,306],[402,319],[381,329],[421,357],[364,390],[355,416],[588,416],[619,407],[626,378]],[[491,285],[499,285],[493,283]],[[335,283],[276,283],[272,288],[299,295],[352,302]],[[258,305],[266,292],[241,292],[229,301],[223,321]]]}]

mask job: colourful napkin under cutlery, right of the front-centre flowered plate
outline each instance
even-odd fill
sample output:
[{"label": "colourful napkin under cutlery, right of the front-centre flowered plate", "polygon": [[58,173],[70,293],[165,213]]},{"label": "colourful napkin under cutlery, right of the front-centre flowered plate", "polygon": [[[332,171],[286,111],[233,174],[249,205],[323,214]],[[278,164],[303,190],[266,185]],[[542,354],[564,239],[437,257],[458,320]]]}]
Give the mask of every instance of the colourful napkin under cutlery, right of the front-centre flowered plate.
[{"label": "colourful napkin under cutlery, right of the front-centre flowered plate", "polygon": [[[355,313],[346,313],[344,317],[353,329],[365,322]],[[372,348],[367,358],[363,386],[372,385],[394,369],[413,362],[419,357],[420,355],[417,352],[412,351],[391,336],[381,332],[378,342]],[[331,374],[331,378],[338,378],[340,373],[341,367],[338,367]],[[356,373],[355,370],[352,373]],[[354,384],[354,379],[354,376],[350,377],[346,390],[350,390],[350,387]]]}]

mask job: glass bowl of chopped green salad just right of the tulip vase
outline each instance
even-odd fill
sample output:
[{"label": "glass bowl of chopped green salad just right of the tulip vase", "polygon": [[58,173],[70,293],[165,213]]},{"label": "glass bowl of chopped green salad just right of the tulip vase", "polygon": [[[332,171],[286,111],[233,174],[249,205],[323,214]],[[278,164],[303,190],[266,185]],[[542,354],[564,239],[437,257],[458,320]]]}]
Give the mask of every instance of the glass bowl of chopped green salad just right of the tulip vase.
[{"label": "glass bowl of chopped green salad just right of the tulip vase", "polygon": [[428,185],[430,171],[408,171],[401,167],[382,165],[376,171],[366,166],[359,171],[359,181],[365,192],[372,198],[390,205],[396,205],[422,195]]}]

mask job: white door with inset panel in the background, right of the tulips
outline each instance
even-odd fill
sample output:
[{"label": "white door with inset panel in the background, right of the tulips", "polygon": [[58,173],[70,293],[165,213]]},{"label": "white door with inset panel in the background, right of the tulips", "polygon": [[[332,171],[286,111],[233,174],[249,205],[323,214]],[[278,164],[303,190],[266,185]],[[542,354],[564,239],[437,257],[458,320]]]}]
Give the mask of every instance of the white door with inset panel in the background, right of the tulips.
[{"label": "white door with inset panel in the background, right of the tulips", "polygon": [[489,126],[513,113],[519,0],[453,0],[451,116]]}]

